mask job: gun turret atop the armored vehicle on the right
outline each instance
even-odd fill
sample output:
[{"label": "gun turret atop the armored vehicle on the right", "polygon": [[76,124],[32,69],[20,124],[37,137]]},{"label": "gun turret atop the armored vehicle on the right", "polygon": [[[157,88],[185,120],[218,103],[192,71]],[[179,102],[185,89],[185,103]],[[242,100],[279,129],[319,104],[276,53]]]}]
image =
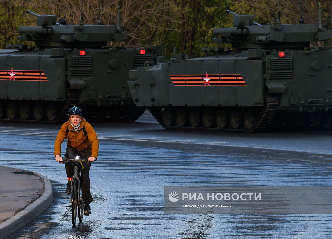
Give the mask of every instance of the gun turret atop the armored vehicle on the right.
[{"label": "gun turret atop the armored vehicle on the right", "polygon": [[236,49],[309,47],[310,42],[331,38],[331,30],[321,20],[317,24],[254,25],[253,15],[233,15],[233,27],[214,28],[212,42],[231,43]]}]

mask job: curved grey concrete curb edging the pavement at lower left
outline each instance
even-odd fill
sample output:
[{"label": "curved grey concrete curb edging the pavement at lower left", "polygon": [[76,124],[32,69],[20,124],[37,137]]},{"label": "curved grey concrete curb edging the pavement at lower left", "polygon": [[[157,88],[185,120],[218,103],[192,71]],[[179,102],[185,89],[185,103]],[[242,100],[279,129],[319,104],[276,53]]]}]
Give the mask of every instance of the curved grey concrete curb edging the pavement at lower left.
[{"label": "curved grey concrete curb edging the pavement at lower left", "polygon": [[[24,171],[32,172],[29,170]],[[49,208],[49,206],[51,206],[51,204],[53,203],[53,189],[51,181],[39,173],[33,173],[35,173],[37,176],[41,177],[44,180],[45,191],[36,201],[34,201],[28,207],[0,224],[0,239],[9,236],[16,230],[31,222],[37,216],[41,215],[41,213],[44,212],[47,208]]]}]

